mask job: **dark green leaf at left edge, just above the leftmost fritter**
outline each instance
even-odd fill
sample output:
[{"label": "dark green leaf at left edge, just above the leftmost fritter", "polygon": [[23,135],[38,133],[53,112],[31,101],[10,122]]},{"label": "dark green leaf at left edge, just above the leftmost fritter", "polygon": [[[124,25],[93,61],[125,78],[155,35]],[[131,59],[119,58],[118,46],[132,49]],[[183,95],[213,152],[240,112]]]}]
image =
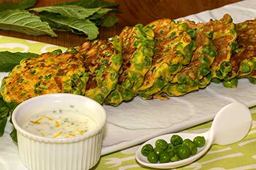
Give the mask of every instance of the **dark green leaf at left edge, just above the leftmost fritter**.
[{"label": "dark green leaf at left edge, just above the leftmost fritter", "polygon": [[0,72],[11,71],[13,67],[18,65],[22,59],[36,56],[38,55],[34,53],[11,53],[7,51],[0,52]]}]

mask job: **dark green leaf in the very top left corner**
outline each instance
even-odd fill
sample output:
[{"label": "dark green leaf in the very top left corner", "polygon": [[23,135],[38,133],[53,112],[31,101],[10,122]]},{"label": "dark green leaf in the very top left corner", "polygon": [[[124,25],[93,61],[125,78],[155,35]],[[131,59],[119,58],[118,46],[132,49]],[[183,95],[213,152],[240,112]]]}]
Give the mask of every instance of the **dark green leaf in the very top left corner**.
[{"label": "dark green leaf in the very top left corner", "polygon": [[24,10],[24,9],[34,7],[35,4],[36,4],[36,0],[23,0],[20,2],[5,2],[4,1],[3,3],[0,4],[0,11],[4,11],[4,10],[8,10],[8,9]]}]

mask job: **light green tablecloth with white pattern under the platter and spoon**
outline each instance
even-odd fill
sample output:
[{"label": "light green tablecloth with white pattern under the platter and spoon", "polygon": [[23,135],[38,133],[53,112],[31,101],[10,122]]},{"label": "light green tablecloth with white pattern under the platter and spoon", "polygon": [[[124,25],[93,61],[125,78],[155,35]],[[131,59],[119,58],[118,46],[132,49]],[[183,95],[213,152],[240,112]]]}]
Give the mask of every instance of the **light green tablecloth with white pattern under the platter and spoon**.
[{"label": "light green tablecloth with white pattern under the platter and spoon", "polygon": [[[0,36],[0,51],[31,52],[40,54],[47,51],[56,50],[57,48],[65,50],[64,47],[59,47],[56,45]],[[256,169],[256,108],[252,108],[251,112],[253,118],[252,126],[250,132],[243,140],[225,146],[212,145],[210,150],[196,162],[177,169]],[[193,128],[189,128],[185,131],[191,133],[201,133],[207,131],[210,126],[211,123],[205,123]],[[10,143],[10,145],[11,144],[13,143]],[[138,147],[139,146],[136,146],[130,149],[102,156],[98,164],[93,167],[93,169],[151,169],[143,167],[136,162],[135,152]]]}]

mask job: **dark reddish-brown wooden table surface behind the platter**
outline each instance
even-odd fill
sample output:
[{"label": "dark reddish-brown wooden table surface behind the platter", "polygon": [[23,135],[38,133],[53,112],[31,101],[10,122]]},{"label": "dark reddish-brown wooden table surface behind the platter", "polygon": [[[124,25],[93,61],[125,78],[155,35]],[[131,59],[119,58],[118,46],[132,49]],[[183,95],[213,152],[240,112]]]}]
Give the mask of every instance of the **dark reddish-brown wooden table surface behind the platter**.
[{"label": "dark reddish-brown wooden table surface behind the platter", "polygon": [[[68,1],[68,0],[66,0]],[[90,1],[90,0],[88,0]],[[134,26],[136,23],[147,23],[160,19],[179,17],[195,14],[201,11],[222,7],[241,0],[107,0],[119,4],[117,9],[122,13],[115,14],[119,21],[112,28],[99,28],[99,38],[108,38],[119,34],[125,26]],[[0,1],[2,2],[2,1]],[[51,6],[63,0],[38,0],[35,7]],[[57,38],[51,36],[30,36],[13,31],[2,31],[0,35],[24,38],[34,41],[46,42],[59,46],[77,46],[86,40],[86,36],[75,35],[69,32],[55,31]]]}]

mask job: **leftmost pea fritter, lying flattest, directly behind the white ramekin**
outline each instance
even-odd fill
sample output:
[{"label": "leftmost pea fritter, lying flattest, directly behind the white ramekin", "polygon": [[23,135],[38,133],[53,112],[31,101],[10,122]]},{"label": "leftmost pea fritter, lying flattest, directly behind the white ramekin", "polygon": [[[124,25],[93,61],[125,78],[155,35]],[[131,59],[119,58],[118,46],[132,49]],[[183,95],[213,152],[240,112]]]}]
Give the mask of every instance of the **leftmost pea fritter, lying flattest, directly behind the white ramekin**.
[{"label": "leftmost pea fritter, lying flattest, directly behind the white ramekin", "polygon": [[1,94],[16,104],[48,93],[83,95],[88,78],[80,54],[56,50],[20,61],[3,79]]}]

